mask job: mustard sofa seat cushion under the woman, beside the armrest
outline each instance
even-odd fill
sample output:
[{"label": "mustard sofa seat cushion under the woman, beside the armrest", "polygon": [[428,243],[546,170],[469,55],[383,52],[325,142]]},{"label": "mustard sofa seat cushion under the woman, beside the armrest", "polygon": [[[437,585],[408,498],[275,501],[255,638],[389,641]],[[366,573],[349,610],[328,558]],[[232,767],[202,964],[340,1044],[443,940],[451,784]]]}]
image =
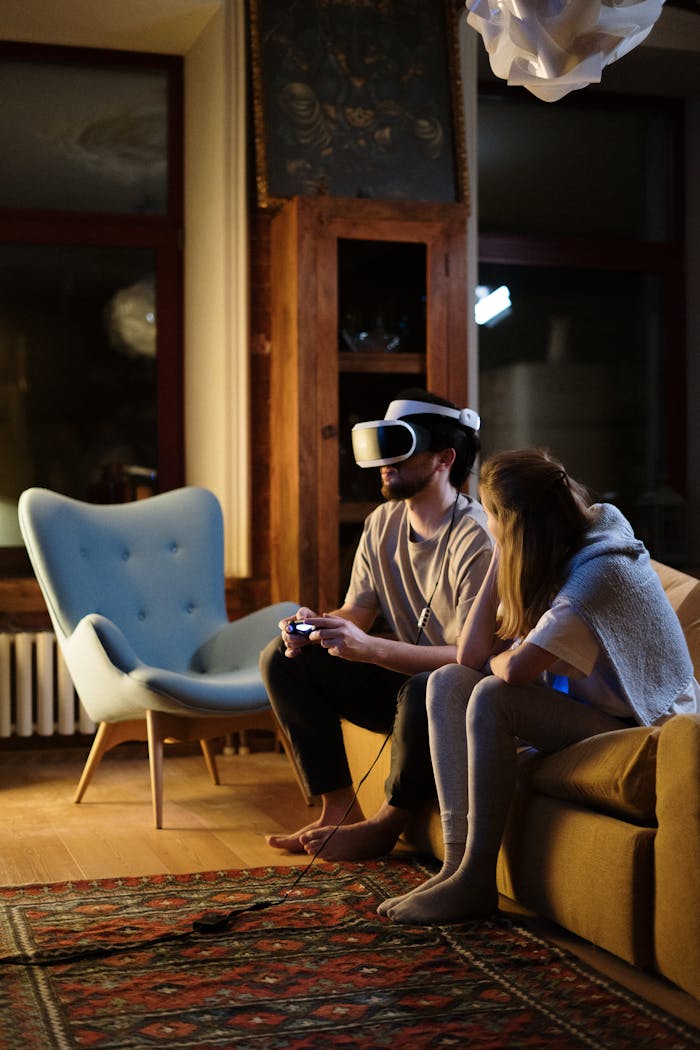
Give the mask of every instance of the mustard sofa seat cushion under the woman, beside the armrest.
[{"label": "mustard sofa seat cushion under the woman, beside the armrest", "polygon": [[526,760],[522,776],[542,795],[651,826],[656,823],[658,736],[654,727],[601,733]]}]

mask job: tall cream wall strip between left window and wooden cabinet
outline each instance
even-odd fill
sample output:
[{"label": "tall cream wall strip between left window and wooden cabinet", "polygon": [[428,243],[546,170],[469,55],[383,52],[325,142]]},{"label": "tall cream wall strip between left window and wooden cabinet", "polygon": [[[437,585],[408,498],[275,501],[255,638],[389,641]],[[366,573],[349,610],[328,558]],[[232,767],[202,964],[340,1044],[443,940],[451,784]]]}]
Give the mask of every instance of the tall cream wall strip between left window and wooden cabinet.
[{"label": "tall cream wall strip between left window and wooden cabinet", "polygon": [[218,496],[226,572],[251,572],[243,0],[185,57],[185,474]]}]

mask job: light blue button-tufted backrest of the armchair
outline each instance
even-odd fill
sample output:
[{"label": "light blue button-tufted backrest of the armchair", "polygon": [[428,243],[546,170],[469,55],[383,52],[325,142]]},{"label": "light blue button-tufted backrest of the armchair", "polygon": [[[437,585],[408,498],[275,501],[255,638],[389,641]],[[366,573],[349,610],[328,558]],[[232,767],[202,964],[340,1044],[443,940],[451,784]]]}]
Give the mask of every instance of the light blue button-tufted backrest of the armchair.
[{"label": "light blue button-tufted backrest of the armchair", "polygon": [[30,488],[19,510],[61,642],[98,613],[145,664],[204,670],[198,652],[227,622],[224,525],[213,492],[187,487],[103,506]]}]

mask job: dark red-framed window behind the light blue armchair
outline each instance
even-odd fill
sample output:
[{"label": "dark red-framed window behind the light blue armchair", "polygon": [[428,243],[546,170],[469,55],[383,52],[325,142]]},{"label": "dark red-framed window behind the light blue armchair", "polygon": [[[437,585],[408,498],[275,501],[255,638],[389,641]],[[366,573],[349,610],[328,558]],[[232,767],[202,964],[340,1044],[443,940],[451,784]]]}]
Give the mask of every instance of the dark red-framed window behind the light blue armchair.
[{"label": "dark red-framed window behind the light blue armchair", "polygon": [[182,482],[182,65],[0,45],[0,571],[30,485]]}]

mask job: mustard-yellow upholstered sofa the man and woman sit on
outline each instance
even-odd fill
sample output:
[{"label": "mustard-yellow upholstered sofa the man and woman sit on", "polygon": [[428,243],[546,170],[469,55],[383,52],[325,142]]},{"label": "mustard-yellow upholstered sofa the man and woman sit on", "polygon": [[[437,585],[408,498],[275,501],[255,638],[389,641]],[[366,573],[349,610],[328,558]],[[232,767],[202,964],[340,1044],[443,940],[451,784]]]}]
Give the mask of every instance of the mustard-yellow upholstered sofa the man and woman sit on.
[{"label": "mustard-yellow upholstered sofa the man and woman sit on", "polygon": [[[655,563],[700,677],[700,581]],[[356,782],[381,737],[344,726]],[[388,748],[360,792],[383,800]],[[437,807],[407,843],[442,855]],[[525,907],[700,999],[700,715],[523,756],[499,888]]]}]

